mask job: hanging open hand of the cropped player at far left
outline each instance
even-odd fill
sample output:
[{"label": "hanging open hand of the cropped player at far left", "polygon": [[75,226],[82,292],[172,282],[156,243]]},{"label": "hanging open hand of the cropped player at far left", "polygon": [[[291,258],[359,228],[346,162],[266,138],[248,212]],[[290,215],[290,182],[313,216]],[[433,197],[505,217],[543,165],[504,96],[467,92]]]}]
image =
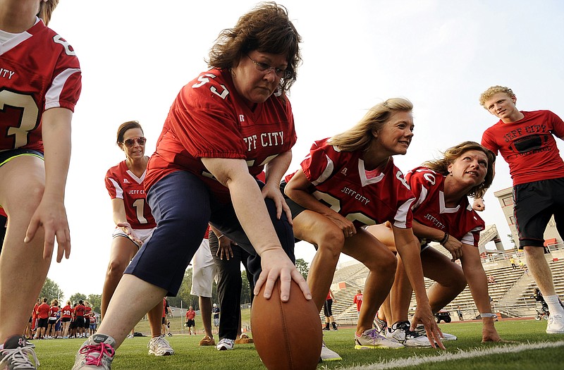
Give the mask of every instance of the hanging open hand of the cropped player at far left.
[{"label": "hanging open hand of the cropped player at far left", "polygon": [[71,231],[68,230],[64,203],[44,195],[31,217],[23,241],[27,243],[35,238],[35,233],[40,226],[44,230],[43,259],[51,260],[55,238],[57,240],[57,262],[61,262],[63,254],[68,259],[71,254]]}]

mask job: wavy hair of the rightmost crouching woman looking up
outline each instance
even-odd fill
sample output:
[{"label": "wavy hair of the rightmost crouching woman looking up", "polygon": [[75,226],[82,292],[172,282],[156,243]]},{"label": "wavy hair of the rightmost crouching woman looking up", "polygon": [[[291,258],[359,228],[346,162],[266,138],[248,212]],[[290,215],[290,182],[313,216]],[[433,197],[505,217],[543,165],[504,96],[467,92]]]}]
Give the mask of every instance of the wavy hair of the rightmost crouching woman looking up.
[{"label": "wavy hair of the rightmost crouching woman looking up", "polygon": [[496,154],[491,152],[491,150],[483,147],[482,145],[478,144],[477,142],[461,142],[454,147],[450,147],[444,151],[443,158],[436,159],[434,161],[425,161],[423,166],[427,168],[431,168],[431,170],[435,171],[436,173],[441,173],[442,175],[448,175],[448,166],[452,164],[456,159],[460,158],[462,154],[470,150],[478,150],[480,152],[484,152],[488,159],[488,170],[486,172],[486,177],[484,177],[484,181],[479,185],[476,185],[470,189],[470,192],[467,193],[467,196],[474,197],[474,198],[482,198],[484,194],[486,194],[486,190],[491,185],[491,182],[494,181],[494,163],[496,161]]}]

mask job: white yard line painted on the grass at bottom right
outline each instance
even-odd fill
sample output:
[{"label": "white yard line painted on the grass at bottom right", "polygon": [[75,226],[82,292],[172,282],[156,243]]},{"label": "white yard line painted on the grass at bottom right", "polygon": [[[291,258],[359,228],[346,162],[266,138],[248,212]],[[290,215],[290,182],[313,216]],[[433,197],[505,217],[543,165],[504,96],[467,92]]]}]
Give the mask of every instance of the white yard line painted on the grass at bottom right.
[{"label": "white yard line painted on the grass at bottom right", "polygon": [[470,359],[481,356],[489,356],[491,354],[501,353],[515,353],[528,350],[541,350],[543,348],[554,348],[564,346],[564,340],[558,342],[542,342],[542,343],[527,343],[521,345],[503,345],[502,347],[490,348],[476,348],[474,350],[463,351],[455,353],[442,353],[436,356],[412,356],[404,359],[393,359],[386,362],[375,364],[343,367],[341,370],[384,370],[384,369],[400,369],[406,366],[415,366],[420,364],[429,364],[431,362],[446,362],[457,359]]}]

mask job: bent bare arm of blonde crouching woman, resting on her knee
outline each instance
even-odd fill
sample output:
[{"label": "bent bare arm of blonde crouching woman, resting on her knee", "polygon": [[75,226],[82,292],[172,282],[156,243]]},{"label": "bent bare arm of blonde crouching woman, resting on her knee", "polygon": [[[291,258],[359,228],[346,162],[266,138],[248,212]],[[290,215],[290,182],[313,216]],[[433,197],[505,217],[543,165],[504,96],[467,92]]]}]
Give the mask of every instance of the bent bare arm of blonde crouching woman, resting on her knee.
[{"label": "bent bare arm of blonde crouching woman, resting on her knee", "polygon": [[354,235],[356,233],[356,228],[353,225],[353,222],[344,218],[338,214],[338,212],[333,211],[333,209],[319,202],[313,195],[309,194],[307,189],[310,186],[312,186],[312,183],[307,180],[305,174],[300,169],[295,173],[293,178],[290,179],[288,184],[286,184],[284,192],[286,192],[286,195],[288,195],[290,199],[300,204],[300,206],[315,211],[318,214],[322,214],[333,221],[338,228],[343,230],[345,238]]}]

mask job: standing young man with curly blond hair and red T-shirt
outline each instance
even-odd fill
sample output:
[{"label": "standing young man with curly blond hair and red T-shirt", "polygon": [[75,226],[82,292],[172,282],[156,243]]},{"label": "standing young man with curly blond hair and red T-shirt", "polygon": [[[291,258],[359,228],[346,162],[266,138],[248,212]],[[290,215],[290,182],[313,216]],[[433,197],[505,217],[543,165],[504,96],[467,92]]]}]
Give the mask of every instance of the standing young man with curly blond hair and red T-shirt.
[{"label": "standing young man with curly blond hair and red T-shirt", "polygon": [[564,139],[564,121],[551,111],[520,111],[509,87],[489,87],[479,102],[499,118],[484,131],[482,145],[501,153],[509,165],[519,248],[551,312],[546,333],[562,334],[564,309],[544,257],[544,230],[554,216],[558,233],[564,235],[564,161],[556,145],[556,137]]}]

